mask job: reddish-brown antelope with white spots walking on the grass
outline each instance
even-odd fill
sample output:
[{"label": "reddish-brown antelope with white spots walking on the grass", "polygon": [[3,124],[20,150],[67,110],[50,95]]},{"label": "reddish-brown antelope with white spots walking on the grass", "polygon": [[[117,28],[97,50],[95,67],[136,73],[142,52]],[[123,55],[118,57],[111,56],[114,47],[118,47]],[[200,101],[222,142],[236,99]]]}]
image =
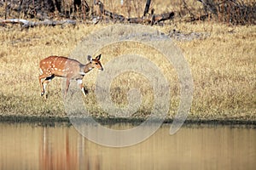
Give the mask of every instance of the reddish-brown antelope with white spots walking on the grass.
[{"label": "reddish-brown antelope with white spots walking on the grass", "polygon": [[[81,64],[76,59],[69,59],[67,57],[61,56],[49,56],[46,59],[42,59],[39,64],[40,71],[42,72],[42,75],[39,76],[41,95],[44,95],[44,99],[46,99],[47,84],[54,77],[66,77],[67,82],[64,96],[67,95],[68,87],[71,80],[76,80],[78,82],[79,88],[82,90],[85,96],[85,90],[82,81],[83,77],[93,68],[97,68],[103,71],[103,67],[100,62],[101,56],[102,54],[96,56],[95,59],[92,59],[91,56],[88,55],[89,63],[87,63],[86,65]],[[43,82],[42,79],[44,79]]]}]

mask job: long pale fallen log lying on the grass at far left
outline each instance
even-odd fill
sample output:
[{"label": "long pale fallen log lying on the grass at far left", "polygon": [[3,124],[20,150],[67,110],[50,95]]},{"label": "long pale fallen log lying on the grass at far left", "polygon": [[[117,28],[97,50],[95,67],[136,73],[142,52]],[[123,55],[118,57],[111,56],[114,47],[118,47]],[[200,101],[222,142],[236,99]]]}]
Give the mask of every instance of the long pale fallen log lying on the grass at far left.
[{"label": "long pale fallen log lying on the grass at far left", "polygon": [[76,25],[75,20],[44,20],[44,21],[30,21],[23,19],[9,19],[9,20],[0,20],[2,26],[6,24],[20,24],[22,27],[29,28],[35,26],[57,26],[57,25]]}]

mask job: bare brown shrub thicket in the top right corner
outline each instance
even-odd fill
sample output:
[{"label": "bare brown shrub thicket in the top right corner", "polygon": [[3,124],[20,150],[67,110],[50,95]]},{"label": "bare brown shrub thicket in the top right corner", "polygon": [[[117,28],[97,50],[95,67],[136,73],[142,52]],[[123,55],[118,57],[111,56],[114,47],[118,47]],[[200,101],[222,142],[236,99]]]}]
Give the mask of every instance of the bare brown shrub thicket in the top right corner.
[{"label": "bare brown shrub thicket in the top right corner", "polygon": [[242,0],[197,1],[201,3],[199,9],[189,6],[190,1],[183,0],[183,7],[189,12],[191,21],[217,20],[232,25],[256,24],[256,2]]}]

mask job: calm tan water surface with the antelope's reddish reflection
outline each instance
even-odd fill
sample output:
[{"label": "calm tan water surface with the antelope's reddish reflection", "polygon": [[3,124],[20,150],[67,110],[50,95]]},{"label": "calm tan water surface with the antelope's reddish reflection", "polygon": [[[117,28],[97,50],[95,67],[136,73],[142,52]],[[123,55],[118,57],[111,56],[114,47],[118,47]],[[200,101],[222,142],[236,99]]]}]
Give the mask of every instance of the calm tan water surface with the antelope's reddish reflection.
[{"label": "calm tan water surface with the antelope's reddish reflection", "polygon": [[[114,125],[124,128],[129,125]],[[0,169],[254,169],[256,129],[169,125],[125,148],[84,139],[72,126],[0,123]]]}]

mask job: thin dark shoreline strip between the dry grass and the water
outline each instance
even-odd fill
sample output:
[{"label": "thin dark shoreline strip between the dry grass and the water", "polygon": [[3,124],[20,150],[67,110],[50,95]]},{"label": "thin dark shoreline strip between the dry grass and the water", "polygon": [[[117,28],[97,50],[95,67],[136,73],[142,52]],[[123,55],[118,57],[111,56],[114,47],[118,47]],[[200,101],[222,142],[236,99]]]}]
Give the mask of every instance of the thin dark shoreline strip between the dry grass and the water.
[{"label": "thin dark shoreline strip between the dry grass and the water", "polygon": [[[93,117],[96,122],[101,124],[131,123],[138,125],[146,119],[143,118],[125,118],[125,117]],[[173,119],[166,118],[163,124],[171,124]],[[42,125],[53,125],[55,123],[67,123],[72,125],[68,116],[0,116],[0,123],[39,123]],[[239,120],[239,119],[186,119],[185,125],[237,125],[256,127],[256,120]]]}]

